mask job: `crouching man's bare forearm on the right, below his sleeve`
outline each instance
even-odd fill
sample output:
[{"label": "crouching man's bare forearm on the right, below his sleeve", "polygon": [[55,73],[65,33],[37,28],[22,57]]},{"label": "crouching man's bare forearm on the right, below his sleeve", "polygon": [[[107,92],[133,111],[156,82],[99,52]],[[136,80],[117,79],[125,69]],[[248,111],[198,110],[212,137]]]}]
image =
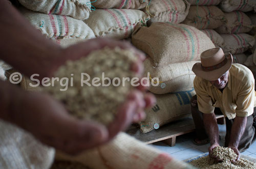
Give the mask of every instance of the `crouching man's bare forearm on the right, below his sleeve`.
[{"label": "crouching man's bare forearm on the right, below his sleeve", "polygon": [[228,147],[238,148],[239,141],[244,133],[246,123],[247,123],[247,117],[236,117],[234,119],[234,123],[231,128]]}]

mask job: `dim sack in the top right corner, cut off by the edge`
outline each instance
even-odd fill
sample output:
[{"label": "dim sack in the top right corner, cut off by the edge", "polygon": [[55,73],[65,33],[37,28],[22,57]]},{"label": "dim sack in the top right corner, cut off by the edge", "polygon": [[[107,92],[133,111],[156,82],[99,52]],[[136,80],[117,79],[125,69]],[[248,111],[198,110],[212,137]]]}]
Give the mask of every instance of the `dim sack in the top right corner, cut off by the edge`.
[{"label": "dim sack in the top right corner, cut off by the edge", "polygon": [[255,0],[223,0],[220,8],[224,12],[242,11],[249,12],[254,9],[256,11]]}]

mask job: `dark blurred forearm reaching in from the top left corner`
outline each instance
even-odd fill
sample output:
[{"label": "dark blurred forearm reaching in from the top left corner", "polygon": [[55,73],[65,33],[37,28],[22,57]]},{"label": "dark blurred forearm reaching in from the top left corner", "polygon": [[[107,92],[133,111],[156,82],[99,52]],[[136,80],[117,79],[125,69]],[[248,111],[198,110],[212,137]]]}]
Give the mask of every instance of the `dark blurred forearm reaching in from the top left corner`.
[{"label": "dark blurred forearm reaching in from the top left corner", "polygon": [[0,32],[0,59],[28,76],[48,76],[54,69],[51,61],[59,55],[60,46],[42,36],[6,0],[0,0]]}]

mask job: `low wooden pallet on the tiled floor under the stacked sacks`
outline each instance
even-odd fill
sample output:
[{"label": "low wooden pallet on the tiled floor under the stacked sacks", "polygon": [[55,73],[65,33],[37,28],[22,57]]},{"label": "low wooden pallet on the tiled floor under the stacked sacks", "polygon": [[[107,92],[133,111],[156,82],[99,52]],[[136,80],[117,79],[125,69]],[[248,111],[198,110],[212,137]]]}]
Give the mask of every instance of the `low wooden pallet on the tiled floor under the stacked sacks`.
[{"label": "low wooden pallet on the tiled floor under the stacked sacks", "polygon": [[[225,118],[223,115],[216,115],[219,122],[224,124]],[[158,130],[153,130],[148,133],[142,133],[139,128],[133,127],[126,133],[134,136],[146,144],[151,144],[159,141],[165,142],[173,147],[176,143],[176,137],[182,134],[195,131],[195,125],[192,118],[185,118],[176,122],[169,123],[160,127]]]}]

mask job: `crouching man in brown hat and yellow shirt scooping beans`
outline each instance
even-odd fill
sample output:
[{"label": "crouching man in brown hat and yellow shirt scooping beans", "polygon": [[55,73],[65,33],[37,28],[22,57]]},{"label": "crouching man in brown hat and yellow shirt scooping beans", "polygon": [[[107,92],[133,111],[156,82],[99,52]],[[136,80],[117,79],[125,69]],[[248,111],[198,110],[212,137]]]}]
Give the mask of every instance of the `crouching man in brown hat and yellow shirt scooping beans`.
[{"label": "crouching man in brown hat and yellow shirt scooping beans", "polygon": [[198,145],[210,142],[209,155],[219,146],[219,128],[215,114],[226,120],[225,147],[240,156],[254,142],[256,134],[256,98],[252,72],[221,48],[202,52],[201,63],[193,66],[196,96],[191,112],[196,126]]}]

